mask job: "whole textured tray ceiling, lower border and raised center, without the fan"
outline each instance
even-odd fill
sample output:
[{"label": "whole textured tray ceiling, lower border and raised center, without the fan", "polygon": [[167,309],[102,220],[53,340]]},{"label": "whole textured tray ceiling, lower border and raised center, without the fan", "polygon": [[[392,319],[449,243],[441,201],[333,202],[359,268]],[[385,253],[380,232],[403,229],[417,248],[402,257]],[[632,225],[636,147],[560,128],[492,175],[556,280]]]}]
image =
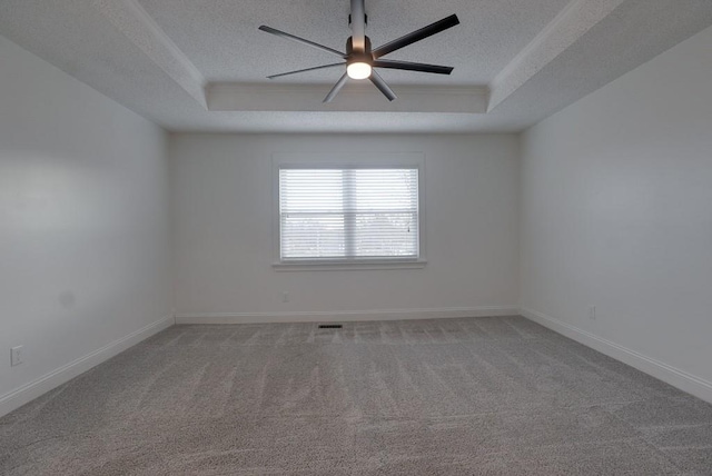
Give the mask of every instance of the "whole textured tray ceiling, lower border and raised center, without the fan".
[{"label": "whole textured tray ceiling, lower border and raised center, without the fan", "polygon": [[[169,130],[474,132],[531,126],[712,24],[710,0],[366,0],[366,9],[375,44],[457,13],[461,26],[393,54],[454,66],[452,77],[383,76],[396,92],[398,85],[423,87],[431,105],[437,95],[428,88],[488,87],[490,111],[396,112],[408,109],[404,95],[400,106],[386,102],[382,112],[344,98],[333,109],[316,105],[307,112],[289,102],[297,89],[283,91],[284,111],[260,110],[259,95],[249,111],[207,110],[210,82],[269,88],[275,81],[266,75],[330,62],[257,27],[342,49],[348,0],[0,0],[0,41],[14,41]],[[276,87],[299,81],[326,93],[330,86],[323,81],[338,70],[328,75]]]}]

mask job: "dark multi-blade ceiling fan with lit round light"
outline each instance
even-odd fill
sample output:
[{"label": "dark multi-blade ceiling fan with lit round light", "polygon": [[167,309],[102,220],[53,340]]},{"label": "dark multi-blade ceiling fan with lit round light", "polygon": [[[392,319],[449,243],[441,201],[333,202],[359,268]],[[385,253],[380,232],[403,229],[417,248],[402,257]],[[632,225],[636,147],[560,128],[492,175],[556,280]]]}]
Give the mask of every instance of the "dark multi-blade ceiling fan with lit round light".
[{"label": "dark multi-blade ceiling fan with lit round light", "polygon": [[446,66],[437,66],[437,65],[426,65],[419,62],[409,62],[409,61],[397,61],[397,60],[383,60],[380,57],[384,57],[388,53],[392,53],[400,48],[407,47],[408,44],[413,44],[416,41],[421,41],[427,37],[432,37],[433,34],[439,33],[441,31],[445,31],[448,28],[453,28],[456,24],[459,24],[459,20],[456,14],[451,14],[435,23],[428,24],[427,27],[421,28],[419,30],[413,31],[408,34],[405,34],[396,40],[387,42],[386,44],[378,47],[376,49],[372,49],[370,40],[366,36],[366,7],[365,0],[352,0],[352,14],[349,16],[349,22],[352,27],[352,36],[346,41],[346,52],[342,52],[329,47],[325,47],[319,43],[315,43],[314,41],[309,41],[307,39],[295,37],[294,34],[286,33],[280,30],[276,30],[274,28],[267,27],[263,24],[259,27],[261,31],[266,31],[271,34],[276,34],[277,37],[286,38],[288,40],[297,41],[303,44],[307,44],[309,47],[319,49],[322,51],[327,51],[332,54],[336,54],[339,58],[346,60],[343,62],[336,62],[330,65],[317,66],[314,68],[299,69],[297,71],[283,72],[280,75],[268,76],[269,79],[280,78],[283,76],[297,75],[306,71],[315,71],[318,69],[326,68],[336,68],[340,66],[346,66],[346,72],[339,78],[334,88],[326,95],[324,98],[324,102],[330,102],[338,91],[342,90],[344,85],[348,81],[348,78],[352,79],[369,79],[376,88],[383,95],[388,98],[389,101],[396,99],[396,95],[393,90],[386,85],[380,75],[378,75],[374,68],[389,68],[389,69],[400,69],[405,71],[421,71],[421,72],[432,72],[435,75],[449,75],[453,72],[453,68]]}]

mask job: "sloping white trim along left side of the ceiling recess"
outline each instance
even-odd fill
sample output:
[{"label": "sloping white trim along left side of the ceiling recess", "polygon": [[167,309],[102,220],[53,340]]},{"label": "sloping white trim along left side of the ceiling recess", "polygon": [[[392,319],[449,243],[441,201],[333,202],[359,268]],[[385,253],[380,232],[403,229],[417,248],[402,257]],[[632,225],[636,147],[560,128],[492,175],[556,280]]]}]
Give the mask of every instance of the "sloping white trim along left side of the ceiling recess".
[{"label": "sloping white trim along left side of the ceiling recess", "polygon": [[92,0],[92,3],[178,86],[207,108],[202,73],[137,0]]}]

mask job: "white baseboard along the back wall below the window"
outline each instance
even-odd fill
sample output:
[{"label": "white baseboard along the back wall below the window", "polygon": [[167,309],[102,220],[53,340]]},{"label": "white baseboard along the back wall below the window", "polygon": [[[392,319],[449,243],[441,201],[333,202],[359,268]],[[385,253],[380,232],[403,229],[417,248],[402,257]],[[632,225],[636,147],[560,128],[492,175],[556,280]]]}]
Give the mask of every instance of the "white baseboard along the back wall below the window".
[{"label": "white baseboard along the back wall below the window", "polygon": [[277,313],[177,314],[176,324],[330,323],[358,320],[411,320],[456,317],[515,316],[517,306],[444,307],[434,309],[379,309]]}]

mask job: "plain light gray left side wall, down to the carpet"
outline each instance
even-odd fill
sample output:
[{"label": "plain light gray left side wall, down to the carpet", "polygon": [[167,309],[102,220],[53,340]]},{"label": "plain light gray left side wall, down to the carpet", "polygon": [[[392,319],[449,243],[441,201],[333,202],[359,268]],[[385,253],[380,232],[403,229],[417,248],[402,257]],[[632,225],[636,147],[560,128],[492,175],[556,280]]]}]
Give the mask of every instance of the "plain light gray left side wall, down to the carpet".
[{"label": "plain light gray left side wall, down to the carpet", "polygon": [[0,65],[2,414],[169,318],[171,295],[167,135],[1,37]]}]

